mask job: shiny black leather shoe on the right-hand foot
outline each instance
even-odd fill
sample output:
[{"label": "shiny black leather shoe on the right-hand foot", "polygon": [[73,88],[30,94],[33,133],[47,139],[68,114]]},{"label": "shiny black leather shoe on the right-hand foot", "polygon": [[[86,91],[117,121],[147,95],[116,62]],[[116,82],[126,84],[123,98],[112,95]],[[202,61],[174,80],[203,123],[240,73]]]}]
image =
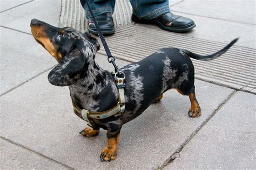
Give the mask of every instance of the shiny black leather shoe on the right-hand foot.
[{"label": "shiny black leather shoe on the right-hand foot", "polygon": [[171,32],[187,32],[196,27],[192,19],[177,16],[171,12],[166,12],[157,18],[149,20],[138,18],[132,13],[132,21],[141,24],[154,24],[159,26],[160,29]]}]

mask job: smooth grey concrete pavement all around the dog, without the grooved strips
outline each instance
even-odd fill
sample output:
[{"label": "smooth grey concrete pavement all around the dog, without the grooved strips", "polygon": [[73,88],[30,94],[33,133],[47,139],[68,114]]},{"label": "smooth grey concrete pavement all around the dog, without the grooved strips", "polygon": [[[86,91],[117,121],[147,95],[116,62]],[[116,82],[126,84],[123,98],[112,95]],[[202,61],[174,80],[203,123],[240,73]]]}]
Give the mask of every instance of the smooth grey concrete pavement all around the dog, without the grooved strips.
[{"label": "smooth grey concrete pavement all around the dog, without the grooved strips", "polygon": [[[68,88],[52,86],[47,80],[56,61],[30,34],[32,18],[57,26],[62,2],[0,2],[1,169],[256,168],[256,96],[201,80],[196,80],[201,117],[187,116],[187,96],[167,91],[160,103],[124,125],[117,159],[100,162],[105,131],[94,138],[79,135],[86,124],[73,114]],[[196,20],[196,29],[185,36],[226,42],[245,30],[239,45],[255,50],[255,2],[246,1],[243,10],[237,3],[185,0],[172,2],[171,8]],[[190,8],[193,4],[194,9]],[[204,10],[197,9],[200,5]],[[237,31],[230,31],[232,24],[238,25],[234,26]],[[256,60],[255,55],[251,58]],[[104,69],[112,70],[103,53],[96,60]],[[124,66],[129,62],[117,63]],[[255,69],[250,73],[255,75]]]}]

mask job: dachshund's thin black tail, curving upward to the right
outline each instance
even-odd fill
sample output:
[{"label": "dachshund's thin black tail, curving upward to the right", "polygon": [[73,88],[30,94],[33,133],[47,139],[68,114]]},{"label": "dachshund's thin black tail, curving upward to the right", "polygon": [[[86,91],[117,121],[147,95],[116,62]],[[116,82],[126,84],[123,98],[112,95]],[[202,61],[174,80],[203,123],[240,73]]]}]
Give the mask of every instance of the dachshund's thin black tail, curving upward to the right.
[{"label": "dachshund's thin black tail, curving upward to the right", "polygon": [[204,61],[213,60],[215,58],[218,58],[218,56],[220,56],[221,54],[225,53],[233,44],[235,44],[235,42],[237,42],[237,40],[238,40],[238,38],[234,39],[226,47],[224,47],[220,51],[218,51],[214,54],[211,54],[211,55],[199,55],[199,54],[195,54],[195,53],[192,53],[190,51],[187,51],[186,49],[182,49],[182,52],[187,54],[188,56],[190,56],[190,58],[193,58],[193,59],[196,59],[196,60],[204,60]]}]

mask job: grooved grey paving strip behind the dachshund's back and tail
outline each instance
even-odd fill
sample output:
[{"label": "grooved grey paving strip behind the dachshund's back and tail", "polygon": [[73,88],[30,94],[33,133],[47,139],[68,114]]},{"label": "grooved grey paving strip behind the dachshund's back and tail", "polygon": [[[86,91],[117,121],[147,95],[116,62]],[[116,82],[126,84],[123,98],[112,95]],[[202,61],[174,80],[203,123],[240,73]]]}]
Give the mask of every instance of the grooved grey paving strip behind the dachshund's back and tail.
[{"label": "grooved grey paving strip behind the dachshund's back and tail", "polygon": [[[201,55],[213,54],[226,43],[190,38],[181,34],[156,31],[143,25],[120,28],[106,38],[113,56],[137,62],[164,47],[187,49]],[[238,40],[239,41],[239,40]],[[102,48],[99,53],[105,53]],[[233,45],[225,54],[211,61],[192,59],[196,77],[234,89],[254,93],[256,88],[256,49]]]}]

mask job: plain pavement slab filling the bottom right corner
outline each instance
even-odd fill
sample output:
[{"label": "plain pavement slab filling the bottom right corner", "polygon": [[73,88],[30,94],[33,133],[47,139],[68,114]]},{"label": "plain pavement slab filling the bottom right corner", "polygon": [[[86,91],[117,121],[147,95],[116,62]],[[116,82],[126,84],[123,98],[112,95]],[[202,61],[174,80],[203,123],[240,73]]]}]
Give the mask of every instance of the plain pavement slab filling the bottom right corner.
[{"label": "plain pavement slab filling the bottom right corner", "polygon": [[165,169],[255,169],[255,103],[235,93]]}]

